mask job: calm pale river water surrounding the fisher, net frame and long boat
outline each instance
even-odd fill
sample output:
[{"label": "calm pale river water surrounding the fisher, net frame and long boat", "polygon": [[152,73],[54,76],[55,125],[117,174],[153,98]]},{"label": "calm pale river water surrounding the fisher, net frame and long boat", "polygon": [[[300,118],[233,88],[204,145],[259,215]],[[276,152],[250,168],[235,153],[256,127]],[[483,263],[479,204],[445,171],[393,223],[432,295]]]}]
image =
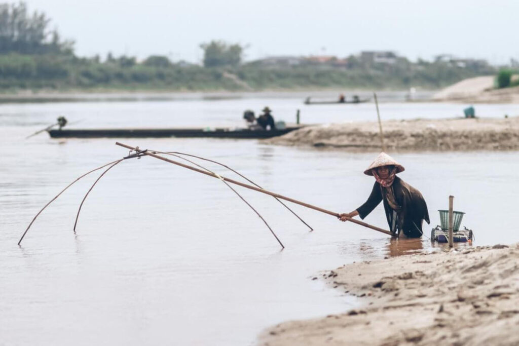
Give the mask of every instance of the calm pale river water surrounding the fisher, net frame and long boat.
[{"label": "calm pale river water surrounding the fisher, net frame and long boat", "polygon": [[[384,100],[383,100],[384,101]],[[268,105],[277,120],[375,120],[373,103],[304,106],[301,98],[192,97],[160,101],[0,105],[0,343],[19,345],[248,345],[269,325],[345,311],[358,302],[311,280],[359,260],[438,251],[427,238],[390,241],[383,233],[238,188],[280,245],[224,184],[153,158],[121,162],[77,208],[101,171],[67,190],[17,242],[38,210],[79,175],[127,155],[113,139],[24,137],[59,115],[71,128],[239,127],[241,114]],[[383,119],[460,116],[467,105],[380,104]],[[519,115],[517,105],[476,105],[476,115]],[[336,212],[365,201],[377,153],[265,145],[256,140],[121,139],[228,164],[266,189]],[[391,153],[401,177],[421,190],[431,226],[454,195],[474,245],[519,241],[519,153]],[[200,162],[218,174],[235,177]],[[382,207],[366,222],[387,228]],[[465,245],[468,246],[468,245]]]}]

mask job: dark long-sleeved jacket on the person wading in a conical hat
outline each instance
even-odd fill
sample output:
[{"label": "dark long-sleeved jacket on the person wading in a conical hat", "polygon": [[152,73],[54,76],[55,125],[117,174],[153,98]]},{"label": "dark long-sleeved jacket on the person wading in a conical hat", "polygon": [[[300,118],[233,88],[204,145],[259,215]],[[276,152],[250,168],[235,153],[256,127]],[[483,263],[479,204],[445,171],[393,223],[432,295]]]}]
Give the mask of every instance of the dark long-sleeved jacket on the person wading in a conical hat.
[{"label": "dark long-sleeved jacket on the person wading in a conical hat", "polygon": [[[427,204],[420,191],[404,182],[398,176],[394,178],[392,184],[394,199],[399,206],[397,211],[397,228],[402,231],[409,238],[421,237],[422,220],[426,220],[429,224],[429,212],[427,211]],[[379,183],[375,182],[373,190],[367,201],[357,208],[359,216],[364,219],[370,214],[373,209],[384,200],[384,210],[386,211],[386,218],[388,220],[389,228],[391,229],[391,221],[393,210],[387,201],[387,193],[383,190]]]}]

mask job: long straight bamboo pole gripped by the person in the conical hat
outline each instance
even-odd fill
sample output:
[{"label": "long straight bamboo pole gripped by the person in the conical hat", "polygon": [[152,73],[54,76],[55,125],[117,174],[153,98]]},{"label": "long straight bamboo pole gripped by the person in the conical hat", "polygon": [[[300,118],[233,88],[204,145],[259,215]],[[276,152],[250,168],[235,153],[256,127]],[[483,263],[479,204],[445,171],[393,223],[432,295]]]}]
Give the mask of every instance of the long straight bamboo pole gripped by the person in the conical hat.
[{"label": "long straight bamboo pole gripped by the person in the conical hat", "polygon": [[[132,147],[131,145],[124,144],[124,143],[119,143],[119,142],[116,142],[115,144],[118,145],[118,146],[130,149],[130,150],[135,150],[137,148],[137,147]],[[244,184],[244,183],[235,181],[234,179],[226,178],[224,176],[220,176],[220,175],[216,175],[216,174],[209,173],[209,172],[206,172],[206,171],[202,171],[202,170],[197,169],[195,167],[191,167],[191,166],[189,166],[187,164],[183,164],[183,163],[180,163],[180,162],[177,162],[177,161],[173,161],[173,160],[170,160],[168,158],[165,158],[165,157],[162,157],[162,156],[150,153],[149,151],[146,151],[145,153],[143,153],[143,155],[151,156],[151,157],[154,157],[154,158],[162,160],[162,161],[173,163],[173,164],[179,165],[180,167],[187,168],[188,170],[192,170],[192,171],[195,171],[195,172],[198,172],[198,173],[202,173],[202,174],[211,176],[213,178],[223,179],[224,181],[229,182],[231,184],[239,185],[239,186],[242,186],[242,187],[254,190],[254,191],[265,193],[265,195],[274,196],[274,197],[277,197],[279,199],[283,199],[285,201],[289,201],[289,202],[292,202],[292,203],[295,203],[295,204],[303,205],[303,206],[306,206],[307,208],[310,208],[310,209],[313,209],[313,210],[317,210],[317,211],[319,211],[321,213],[329,214],[329,215],[332,215],[332,216],[335,216],[335,217],[339,217],[339,215],[340,215],[339,213],[335,213],[335,212],[332,212],[332,211],[320,208],[320,207],[312,205],[312,204],[301,202],[301,201],[295,200],[295,199],[290,198],[290,197],[285,197],[285,196],[279,195],[278,193],[270,192],[270,191],[267,191],[265,189],[261,189],[261,188],[257,188],[257,187],[252,186],[252,185]],[[394,236],[393,233],[391,233],[390,231],[385,230],[383,228],[372,226],[370,224],[366,224],[365,222],[362,222],[362,221],[359,221],[359,220],[356,220],[356,219],[353,219],[353,218],[350,218],[350,217],[348,217],[347,219],[348,219],[348,221],[350,221],[350,222],[352,222],[354,224],[361,225],[361,226],[364,226],[364,227],[367,227],[367,228],[371,228],[371,229],[373,229],[375,231],[379,231],[379,232],[388,234],[389,236]]]}]

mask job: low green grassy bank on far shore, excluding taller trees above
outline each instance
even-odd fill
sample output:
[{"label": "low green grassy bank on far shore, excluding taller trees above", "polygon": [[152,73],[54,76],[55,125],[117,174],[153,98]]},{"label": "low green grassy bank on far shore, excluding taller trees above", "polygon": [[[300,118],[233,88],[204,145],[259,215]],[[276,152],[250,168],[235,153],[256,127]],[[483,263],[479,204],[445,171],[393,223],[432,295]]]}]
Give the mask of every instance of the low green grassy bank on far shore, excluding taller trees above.
[{"label": "low green grassy bank on far shore, excluding taller trees above", "polygon": [[[227,74],[238,77],[237,83]],[[441,62],[333,67],[329,65],[237,67],[153,66],[132,59],[78,58],[73,55],[0,55],[0,92],[55,91],[210,91],[266,89],[437,89],[464,78],[488,74]],[[495,73],[491,71],[490,73]],[[243,83],[244,82],[244,83]]]}]

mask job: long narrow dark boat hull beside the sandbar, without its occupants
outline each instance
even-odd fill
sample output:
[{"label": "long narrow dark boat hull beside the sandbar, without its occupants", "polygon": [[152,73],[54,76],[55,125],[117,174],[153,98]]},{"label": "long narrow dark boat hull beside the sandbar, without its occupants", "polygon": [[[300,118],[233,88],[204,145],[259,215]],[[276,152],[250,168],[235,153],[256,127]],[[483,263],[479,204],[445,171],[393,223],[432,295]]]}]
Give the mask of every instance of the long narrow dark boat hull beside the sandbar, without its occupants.
[{"label": "long narrow dark boat hull beside the sandbar, without its occupants", "polygon": [[286,127],[277,130],[251,130],[231,128],[192,128],[192,129],[85,129],[85,130],[47,130],[52,138],[131,138],[131,137],[179,137],[179,138],[231,138],[264,139],[289,133],[302,126]]}]

